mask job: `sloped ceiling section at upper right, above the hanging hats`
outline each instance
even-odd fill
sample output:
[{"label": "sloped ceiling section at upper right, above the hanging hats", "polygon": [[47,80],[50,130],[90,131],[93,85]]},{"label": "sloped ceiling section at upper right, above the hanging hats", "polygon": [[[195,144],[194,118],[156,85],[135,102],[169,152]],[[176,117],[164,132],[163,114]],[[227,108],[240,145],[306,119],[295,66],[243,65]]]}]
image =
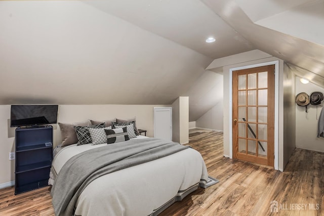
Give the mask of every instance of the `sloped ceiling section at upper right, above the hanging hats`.
[{"label": "sloped ceiling section at upper right, above the hanging hats", "polygon": [[306,71],[310,81],[324,86],[319,81],[324,77],[323,0],[202,1],[258,50]]}]

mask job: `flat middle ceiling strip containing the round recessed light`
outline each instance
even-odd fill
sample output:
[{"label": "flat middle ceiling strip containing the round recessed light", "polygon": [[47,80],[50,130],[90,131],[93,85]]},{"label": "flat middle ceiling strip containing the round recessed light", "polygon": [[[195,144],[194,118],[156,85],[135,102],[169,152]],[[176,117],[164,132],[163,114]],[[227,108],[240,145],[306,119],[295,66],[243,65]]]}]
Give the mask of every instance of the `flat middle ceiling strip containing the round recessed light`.
[{"label": "flat middle ceiling strip containing the round recessed light", "polygon": [[[197,0],[109,0],[85,3],[212,59],[253,49],[248,40]],[[206,43],[205,40],[210,36],[216,37],[218,42]]]}]

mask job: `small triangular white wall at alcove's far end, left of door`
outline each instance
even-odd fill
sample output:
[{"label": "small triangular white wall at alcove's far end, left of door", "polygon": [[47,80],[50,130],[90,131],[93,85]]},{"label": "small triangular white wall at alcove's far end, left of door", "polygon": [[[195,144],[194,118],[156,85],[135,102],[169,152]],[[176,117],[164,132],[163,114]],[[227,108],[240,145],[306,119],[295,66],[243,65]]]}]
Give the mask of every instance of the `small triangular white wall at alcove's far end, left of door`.
[{"label": "small triangular white wall at alcove's far end, left of door", "polygon": [[198,118],[196,127],[223,131],[223,100]]}]

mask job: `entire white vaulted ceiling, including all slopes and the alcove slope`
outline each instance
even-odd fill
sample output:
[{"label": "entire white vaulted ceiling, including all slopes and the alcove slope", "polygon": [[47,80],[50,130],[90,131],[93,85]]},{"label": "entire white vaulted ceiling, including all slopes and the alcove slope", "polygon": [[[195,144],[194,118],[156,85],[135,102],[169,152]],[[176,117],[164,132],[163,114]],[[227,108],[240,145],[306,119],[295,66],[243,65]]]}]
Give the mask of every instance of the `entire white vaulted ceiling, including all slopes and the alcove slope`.
[{"label": "entire white vaulted ceiling, including all slopes and the alcove slope", "polygon": [[[222,100],[214,60],[251,50],[324,86],[324,1],[0,1],[0,104]],[[209,36],[216,42],[206,43]]]}]

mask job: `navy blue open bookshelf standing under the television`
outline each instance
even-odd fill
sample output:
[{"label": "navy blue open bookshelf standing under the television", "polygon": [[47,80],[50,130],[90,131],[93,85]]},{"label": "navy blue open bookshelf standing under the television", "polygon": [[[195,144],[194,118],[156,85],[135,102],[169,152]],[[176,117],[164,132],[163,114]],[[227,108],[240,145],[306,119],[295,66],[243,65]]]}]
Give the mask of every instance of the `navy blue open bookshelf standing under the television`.
[{"label": "navy blue open bookshelf standing under the television", "polygon": [[15,195],[48,185],[53,127],[16,128]]}]

